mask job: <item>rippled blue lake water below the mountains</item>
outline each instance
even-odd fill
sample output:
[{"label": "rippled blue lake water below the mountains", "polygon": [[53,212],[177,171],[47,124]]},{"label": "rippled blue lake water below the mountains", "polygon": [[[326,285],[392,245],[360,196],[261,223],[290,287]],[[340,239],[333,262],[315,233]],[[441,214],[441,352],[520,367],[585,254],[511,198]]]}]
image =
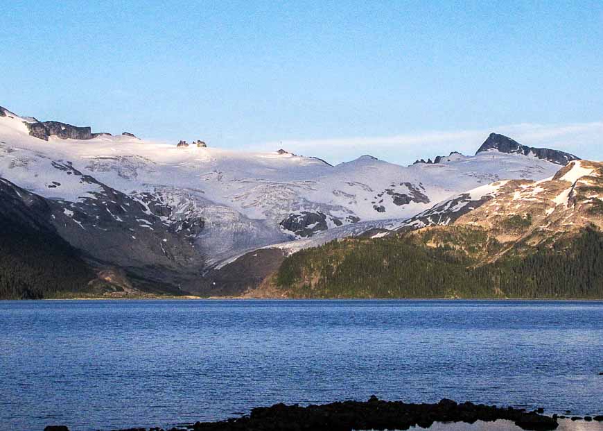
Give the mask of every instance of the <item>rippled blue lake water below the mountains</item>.
[{"label": "rippled blue lake water below the mountains", "polygon": [[603,414],[603,302],[0,301],[0,424],[364,400]]}]

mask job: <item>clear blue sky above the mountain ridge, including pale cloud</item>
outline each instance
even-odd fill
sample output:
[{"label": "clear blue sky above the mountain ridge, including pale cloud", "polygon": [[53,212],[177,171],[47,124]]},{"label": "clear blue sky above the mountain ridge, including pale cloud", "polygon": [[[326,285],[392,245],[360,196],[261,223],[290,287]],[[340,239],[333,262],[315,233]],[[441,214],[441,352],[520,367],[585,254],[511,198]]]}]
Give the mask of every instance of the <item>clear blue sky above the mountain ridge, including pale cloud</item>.
[{"label": "clear blue sky above the mountain ridge, including pale cloud", "polygon": [[0,105],[329,162],[491,131],[603,160],[603,2],[13,0]]}]

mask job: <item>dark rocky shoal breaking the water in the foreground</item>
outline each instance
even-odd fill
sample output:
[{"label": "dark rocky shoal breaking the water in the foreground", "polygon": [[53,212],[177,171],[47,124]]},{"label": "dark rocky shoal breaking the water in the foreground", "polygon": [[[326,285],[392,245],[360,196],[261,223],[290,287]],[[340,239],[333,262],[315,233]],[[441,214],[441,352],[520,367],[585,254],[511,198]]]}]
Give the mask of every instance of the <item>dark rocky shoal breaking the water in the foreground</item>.
[{"label": "dark rocky shoal breaking the water in the foreground", "polygon": [[[325,405],[277,404],[272,407],[256,407],[240,418],[218,422],[197,422],[163,430],[148,431],[234,431],[234,430],[281,430],[281,431],[352,431],[352,430],[408,430],[411,426],[429,428],[435,422],[491,422],[498,419],[512,421],[523,430],[555,430],[557,419],[565,416],[545,416],[542,409],[527,412],[525,409],[457,404],[443,399],[437,404],[410,404],[402,401],[384,401],[372,396],[367,401],[344,401]],[[582,418],[580,418],[582,419]],[[603,421],[603,416],[584,418],[586,421]],[[68,431],[64,426],[49,426],[44,431]],[[116,430],[114,430],[116,431]],[[147,431],[146,428],[130,428],[120,431]]]}]

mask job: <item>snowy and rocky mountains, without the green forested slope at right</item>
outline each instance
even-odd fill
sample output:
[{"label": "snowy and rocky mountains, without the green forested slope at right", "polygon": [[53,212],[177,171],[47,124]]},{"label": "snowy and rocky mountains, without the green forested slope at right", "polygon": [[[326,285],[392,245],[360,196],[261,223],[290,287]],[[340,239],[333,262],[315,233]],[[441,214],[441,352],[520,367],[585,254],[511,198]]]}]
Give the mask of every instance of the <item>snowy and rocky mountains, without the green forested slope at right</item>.
[{"label": "snowy and rocky mountains, without the green forested slope at right", "polygon": [[597,162],[496,133],[475,155],[434,160],[332,166],[0,107],[0,296],[299,296],[279,272],[328,244],[478,229],[502,244],[495,262],[602,227]]}]

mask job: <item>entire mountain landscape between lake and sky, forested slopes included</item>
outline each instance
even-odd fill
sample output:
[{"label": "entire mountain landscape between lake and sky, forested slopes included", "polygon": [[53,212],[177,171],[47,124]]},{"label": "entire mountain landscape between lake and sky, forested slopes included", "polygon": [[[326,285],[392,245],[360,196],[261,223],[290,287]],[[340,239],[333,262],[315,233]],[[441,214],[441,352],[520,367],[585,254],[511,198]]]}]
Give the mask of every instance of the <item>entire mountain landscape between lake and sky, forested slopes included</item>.
[{"label": "entire mountain landscape between lake and sky, forested slopes included", "polygon": [[602,228],[602,163],[496,133],[332,166],[0,107],[0,298],[603,298]]}]

